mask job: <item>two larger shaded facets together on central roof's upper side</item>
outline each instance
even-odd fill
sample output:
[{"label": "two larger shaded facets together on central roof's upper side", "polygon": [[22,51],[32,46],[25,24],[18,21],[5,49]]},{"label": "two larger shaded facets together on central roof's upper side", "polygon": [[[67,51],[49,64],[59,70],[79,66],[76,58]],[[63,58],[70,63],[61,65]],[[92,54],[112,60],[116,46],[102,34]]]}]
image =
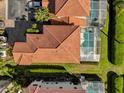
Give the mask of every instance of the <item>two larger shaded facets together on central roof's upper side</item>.
[{"label": "two larger shaded facets together on central roof's upper side", "polygon": [[45,25],[43,26],[43,34],[27,34],[27,42],[32,42],[37,48],[56,48],[77,27],[70,25]]}]

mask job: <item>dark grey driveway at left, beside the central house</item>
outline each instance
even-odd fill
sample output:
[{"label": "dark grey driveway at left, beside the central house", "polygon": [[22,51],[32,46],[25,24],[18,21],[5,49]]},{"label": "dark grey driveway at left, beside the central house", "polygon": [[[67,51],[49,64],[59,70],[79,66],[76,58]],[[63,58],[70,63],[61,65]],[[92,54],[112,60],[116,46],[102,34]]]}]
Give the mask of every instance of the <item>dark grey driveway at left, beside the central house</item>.
[{"label": "dark grey driveway at left, beside the central house", "polygon": [[7,41],[9,45],[14,45],[15,42],[26,42],[25,31],[32,26],[29,21],[15,21],[15,27],[8,27],[5,29]]}]

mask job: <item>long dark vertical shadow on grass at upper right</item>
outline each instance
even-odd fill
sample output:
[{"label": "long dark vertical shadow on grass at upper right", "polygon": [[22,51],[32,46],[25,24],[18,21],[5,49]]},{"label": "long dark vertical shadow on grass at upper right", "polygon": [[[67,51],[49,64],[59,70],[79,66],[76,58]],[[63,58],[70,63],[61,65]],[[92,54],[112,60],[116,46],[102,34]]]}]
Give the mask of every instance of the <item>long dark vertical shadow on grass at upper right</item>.
[{"label": "long dark vertical shadow on grass at upper right", "polygon": [[[119,58],[119,55],[116,54],[116,51],[118,51],[117,44],[124,44],[124,42],[119,41],[118,34],[119,32],[116,30],[117,23],[116,23],[116,4],[114,4],[116,0],[109,0],[109,28],[108,28],[108,59],[112,64],[120,65],[122,64],[120,60],[117,60]],[[119,10],[118,10],[119,11]],[[123,19],[122,19],[123,20]],[[118,27],[119,28],[119,27]],[[116,33],[115,33],[116,32]],[[117,37],[117,38],[115,38]]]}]

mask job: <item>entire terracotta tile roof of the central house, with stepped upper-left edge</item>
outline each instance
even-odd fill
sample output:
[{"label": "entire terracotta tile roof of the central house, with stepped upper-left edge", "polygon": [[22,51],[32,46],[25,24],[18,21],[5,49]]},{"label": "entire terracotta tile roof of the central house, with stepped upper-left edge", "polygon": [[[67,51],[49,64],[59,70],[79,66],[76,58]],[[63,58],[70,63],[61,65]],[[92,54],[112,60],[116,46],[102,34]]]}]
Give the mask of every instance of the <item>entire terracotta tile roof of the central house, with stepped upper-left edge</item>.
[{"label": "entire terracotta tile roof of the central house, with stepped upper-left edge", "polygon": [[80,63],[80,27],[44,25],[43,34],[27,34],[27,42],[15,43],[17,64]]}]

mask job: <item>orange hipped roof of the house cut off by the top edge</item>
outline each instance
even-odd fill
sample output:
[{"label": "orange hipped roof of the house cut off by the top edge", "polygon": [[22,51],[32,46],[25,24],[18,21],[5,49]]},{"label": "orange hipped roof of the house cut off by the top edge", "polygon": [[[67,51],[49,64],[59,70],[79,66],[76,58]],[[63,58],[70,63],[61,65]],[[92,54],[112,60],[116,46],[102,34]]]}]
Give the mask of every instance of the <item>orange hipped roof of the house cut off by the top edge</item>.
[{"label": "orange hipped roof of the house cut off by the top edge", "polygon": [[57,16],[88,16],[90,0],[42,0],[42,5]]}]

